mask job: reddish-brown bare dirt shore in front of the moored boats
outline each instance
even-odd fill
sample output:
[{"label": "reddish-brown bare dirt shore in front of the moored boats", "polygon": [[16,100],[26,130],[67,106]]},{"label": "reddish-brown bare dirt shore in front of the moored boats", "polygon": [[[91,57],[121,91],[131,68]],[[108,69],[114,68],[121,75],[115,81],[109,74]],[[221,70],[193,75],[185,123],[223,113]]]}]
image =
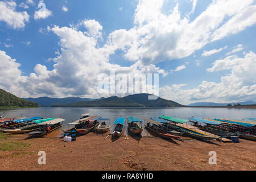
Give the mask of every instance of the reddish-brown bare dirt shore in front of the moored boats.
[{"label": "reddish-brown bare dirt shore in front of the moored boats", "polygon": [[[54,133],[54,134],[53,134]],[[158,137],[121,137],[115,141],[90,133],[66,143],[54,131],[46,138],[7,135],[25,143],[16,151],[0,151],[1,170],[256,170],[256,142],[203,142],[196,139],[164,140]],[[38,152],[46,152],[46,165]],[[210,165],[209,151],[217,152]]]}]

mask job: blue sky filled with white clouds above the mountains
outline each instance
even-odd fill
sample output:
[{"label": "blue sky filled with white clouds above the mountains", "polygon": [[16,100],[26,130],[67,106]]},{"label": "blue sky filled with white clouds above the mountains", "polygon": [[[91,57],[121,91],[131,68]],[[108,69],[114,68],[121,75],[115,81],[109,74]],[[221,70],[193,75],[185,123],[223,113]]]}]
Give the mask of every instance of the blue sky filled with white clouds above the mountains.
[{"label": "blue sky filled with white clouds above the mountains", "polygon": [[255,101],[255,32],[255,0],[0,1],[0,88],[122,97],[99,75],[158,73],[180,104]]}]

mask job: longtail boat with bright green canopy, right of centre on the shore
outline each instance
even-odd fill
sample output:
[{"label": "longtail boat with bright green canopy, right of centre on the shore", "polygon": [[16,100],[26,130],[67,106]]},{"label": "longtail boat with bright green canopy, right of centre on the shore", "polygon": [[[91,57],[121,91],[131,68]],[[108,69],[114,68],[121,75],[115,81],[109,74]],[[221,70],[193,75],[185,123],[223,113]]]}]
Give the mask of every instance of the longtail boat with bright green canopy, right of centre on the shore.
[{"label": "longtail boat with bright green canopy, right of centre on the shore", "polygon": [[[189,137],[194,137],[194,138],[199,138],[199,139],[204,139],[204,140],[220,139],[220,137],[217,137],[217,136],[212,136],[212,135],[208,135],[205,133],[201,133],[199,129],[197,129],[199,131],[196,131],[196,127],[195,127],[195,130],[188,128],[188,127],[193,128],[193,126],[188,125],[187,119],[173,118],[173,117],[168,117],[166,115],[162,115],[159,118],[170,121],[170,124],[168,125],[169,127],[171,127],[172,129],[174,129],[176,131],[184,132],[184,134],[188,135]],[[184,126],[181,126],[184,123],[186,123],[187,128]]]}]

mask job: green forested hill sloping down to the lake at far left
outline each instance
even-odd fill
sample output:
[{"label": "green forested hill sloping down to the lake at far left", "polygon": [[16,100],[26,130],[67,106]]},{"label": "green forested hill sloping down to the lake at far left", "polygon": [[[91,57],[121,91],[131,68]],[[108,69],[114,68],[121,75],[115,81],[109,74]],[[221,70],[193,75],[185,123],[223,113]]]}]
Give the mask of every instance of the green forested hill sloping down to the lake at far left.
[{"label": "green forested hill sloping down to the lake at far left", "polygon": [[38,103],[30,102],[0,89],[0,107],[38,107]]}]

